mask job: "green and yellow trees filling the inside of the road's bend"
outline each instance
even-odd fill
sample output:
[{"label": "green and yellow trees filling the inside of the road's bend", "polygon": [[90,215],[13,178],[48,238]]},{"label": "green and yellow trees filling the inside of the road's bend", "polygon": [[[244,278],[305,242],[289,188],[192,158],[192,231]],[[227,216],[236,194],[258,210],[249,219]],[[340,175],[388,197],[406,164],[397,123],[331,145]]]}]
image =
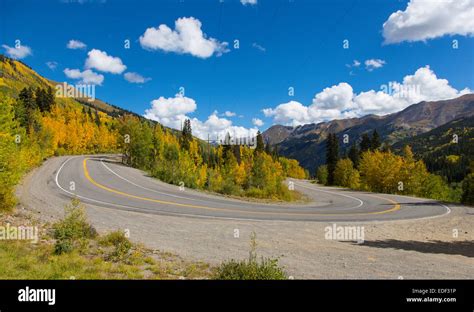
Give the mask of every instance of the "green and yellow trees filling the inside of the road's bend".
[{"label": "green and yellow trees filling the inside of the road's bend", "polygon": [[[178,135],[133,116],[121,122],[120,133],[126,140],[121,145],[124,162],[167,183],[226,195],[291,201],[298,196],[284,180],[307,175],[296,160],[279,157],[265,147],[260,133],[254,149],[211,146],[192,136],[189,120]],[[230,141],[230,136],[225,141]]]}]

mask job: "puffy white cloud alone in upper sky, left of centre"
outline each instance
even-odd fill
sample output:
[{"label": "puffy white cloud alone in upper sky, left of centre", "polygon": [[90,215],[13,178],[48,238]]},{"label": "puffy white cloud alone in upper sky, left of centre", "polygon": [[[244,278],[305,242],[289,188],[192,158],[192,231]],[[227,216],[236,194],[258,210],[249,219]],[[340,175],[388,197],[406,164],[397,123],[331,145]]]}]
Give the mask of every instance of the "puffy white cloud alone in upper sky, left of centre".
[{"label": "puffy white cloud alone in upper sky, left of centre", "polygon": [[140,45],[144,49],[187,53],[200,58],[208,58],[213,54],[220,56],[229,52],[227,42],[207,38],[201,26],[201,22],[194,17],[178,18],[174,30],[165,24],[161,24],[158,28],[148,28],[140,36]]}]

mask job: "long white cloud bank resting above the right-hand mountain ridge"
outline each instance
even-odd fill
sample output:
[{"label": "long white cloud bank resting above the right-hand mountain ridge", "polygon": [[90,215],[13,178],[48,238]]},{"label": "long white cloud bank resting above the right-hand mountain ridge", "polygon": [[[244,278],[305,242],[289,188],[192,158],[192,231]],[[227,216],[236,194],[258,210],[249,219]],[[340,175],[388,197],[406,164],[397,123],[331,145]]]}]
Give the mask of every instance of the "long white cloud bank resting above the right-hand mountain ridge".
[{"label": "long white cloud bank resting above the right-hand mountain ridge", "polygon": [[448,80],[438,78],[429,66],[425,66],[413,75],[405,76],[401,83],[389,82],[379,91],[356,94],[349,84],[342,82],[316,94],[308,106],[291,101],[266,108],[263,113],[275,123],[297,126],[367,114],[385,115],[421,101],[451,99],[471,92],[468,88],[456,90]]}]

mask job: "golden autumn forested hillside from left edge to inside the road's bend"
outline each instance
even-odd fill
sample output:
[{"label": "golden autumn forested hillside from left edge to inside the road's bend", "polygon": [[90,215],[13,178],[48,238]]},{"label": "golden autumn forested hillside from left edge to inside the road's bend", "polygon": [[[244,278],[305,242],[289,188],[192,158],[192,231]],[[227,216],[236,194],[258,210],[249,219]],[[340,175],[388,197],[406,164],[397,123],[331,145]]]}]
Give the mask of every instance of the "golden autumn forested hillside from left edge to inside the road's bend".
[{"label": "golden autumn forested hillside from left edge to inside the road's bend", "polygon": [[257,148],[210,146],[192,136],[95,100],[58,97],[55,83],[25,64],[0,58],[0,209],[31,168],[53,155],[124,153],[124,161],[163,181],[224,194],[291,200],[287,176],[304,178],[295,160]]}]

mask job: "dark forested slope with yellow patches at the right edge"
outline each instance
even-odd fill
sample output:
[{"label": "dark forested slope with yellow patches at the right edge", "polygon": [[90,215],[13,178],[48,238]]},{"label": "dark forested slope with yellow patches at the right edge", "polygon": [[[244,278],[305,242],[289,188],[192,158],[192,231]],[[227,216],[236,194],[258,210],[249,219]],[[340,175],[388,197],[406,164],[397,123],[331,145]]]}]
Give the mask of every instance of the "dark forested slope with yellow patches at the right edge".
[{"label": "dark forested slope with yellow patches at the right edge", "polygon": [[474,116],[462,117],[415,137],[393,145],[395,151],[410,145],[417,158],[423,159],[428,170],[448,182],[460,182],[469,173],[474,161]]}]

